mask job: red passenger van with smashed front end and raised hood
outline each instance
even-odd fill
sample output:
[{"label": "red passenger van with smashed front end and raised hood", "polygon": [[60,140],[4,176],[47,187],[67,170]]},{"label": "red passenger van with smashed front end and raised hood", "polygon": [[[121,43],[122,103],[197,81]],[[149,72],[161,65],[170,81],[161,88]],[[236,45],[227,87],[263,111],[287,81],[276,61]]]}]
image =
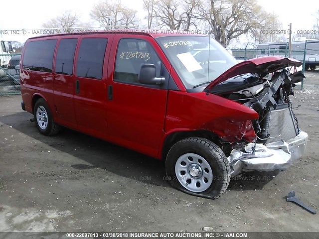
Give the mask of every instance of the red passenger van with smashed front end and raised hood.
[{"label": "red passenger van with smashed front end and raised hood", "polygon": [[218,198],[243,171],[286,169],[302,157],[289,95],[301,62],[238,63],[208,36],[119,30],[26,41],[22,109],[38,130],[60,125],[165,160],[167,180]]}]

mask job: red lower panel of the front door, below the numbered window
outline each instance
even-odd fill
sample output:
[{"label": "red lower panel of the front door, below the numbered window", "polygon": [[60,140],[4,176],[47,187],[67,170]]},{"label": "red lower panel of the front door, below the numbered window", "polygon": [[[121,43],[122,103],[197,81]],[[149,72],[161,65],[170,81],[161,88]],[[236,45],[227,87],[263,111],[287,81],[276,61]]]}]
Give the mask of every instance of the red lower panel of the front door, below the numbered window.
[{"label": "red lower panel of the front door, below the numbered window", "polygon": [[128,147],[157,156],[163,135],[167,91],[114,82],[108,102],[108,132]]}]

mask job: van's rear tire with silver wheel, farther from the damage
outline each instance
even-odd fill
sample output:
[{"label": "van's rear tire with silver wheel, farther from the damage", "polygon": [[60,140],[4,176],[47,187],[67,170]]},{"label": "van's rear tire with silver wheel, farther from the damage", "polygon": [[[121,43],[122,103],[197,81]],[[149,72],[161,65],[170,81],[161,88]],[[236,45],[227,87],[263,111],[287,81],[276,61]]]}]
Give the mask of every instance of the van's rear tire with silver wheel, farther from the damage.
[{"label": "van's rear tire with silver wheel, farther from the damage", "polygon": [[43,99],[36,101],[33,114],[35,125],[40,133],[54,135],[60,131],[60,125],[54,122],[49,106]]}]

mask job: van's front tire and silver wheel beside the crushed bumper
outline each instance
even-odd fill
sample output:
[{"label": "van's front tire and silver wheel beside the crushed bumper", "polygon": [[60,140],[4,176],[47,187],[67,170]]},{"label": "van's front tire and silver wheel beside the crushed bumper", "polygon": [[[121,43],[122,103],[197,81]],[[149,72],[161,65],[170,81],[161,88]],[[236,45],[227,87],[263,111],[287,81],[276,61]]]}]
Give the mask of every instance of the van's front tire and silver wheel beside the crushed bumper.
[{"label": "van's front tire and silver wheel beside the crushed bumper", "polygon": [[165,164],[170,184],[191,195],[217,199],[229,185],[230,167],[226,155],[205,138],[178,141],[168,151]]}]

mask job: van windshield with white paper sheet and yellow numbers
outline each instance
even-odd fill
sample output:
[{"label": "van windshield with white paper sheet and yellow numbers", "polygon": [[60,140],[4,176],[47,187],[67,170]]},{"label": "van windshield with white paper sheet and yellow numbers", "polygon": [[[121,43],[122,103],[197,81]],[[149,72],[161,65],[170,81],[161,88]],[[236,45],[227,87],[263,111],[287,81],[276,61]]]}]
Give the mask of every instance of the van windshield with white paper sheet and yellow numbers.
[{"label": "van windshield with white paper sheet and yellow numbers", "polygon": [[167,36],[156,40],[187,89],[206,87],[238,63],[208,36]]}]

